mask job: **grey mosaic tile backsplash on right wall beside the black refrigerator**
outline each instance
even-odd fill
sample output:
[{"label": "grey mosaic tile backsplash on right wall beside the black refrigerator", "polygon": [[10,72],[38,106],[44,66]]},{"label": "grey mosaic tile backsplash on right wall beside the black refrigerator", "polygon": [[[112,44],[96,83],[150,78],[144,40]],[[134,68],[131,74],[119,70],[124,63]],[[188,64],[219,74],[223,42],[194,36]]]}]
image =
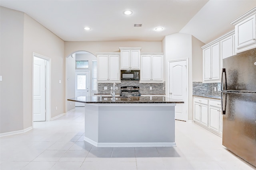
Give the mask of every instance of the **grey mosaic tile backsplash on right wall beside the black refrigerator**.
[{"label": "grey mosaic tile backsplash on right wall beside the black refrigerator", "polygon": [[[214,91],[216,87],[216,91]],[[193,95],[220,96],[220,83],[193,82]]]}]

